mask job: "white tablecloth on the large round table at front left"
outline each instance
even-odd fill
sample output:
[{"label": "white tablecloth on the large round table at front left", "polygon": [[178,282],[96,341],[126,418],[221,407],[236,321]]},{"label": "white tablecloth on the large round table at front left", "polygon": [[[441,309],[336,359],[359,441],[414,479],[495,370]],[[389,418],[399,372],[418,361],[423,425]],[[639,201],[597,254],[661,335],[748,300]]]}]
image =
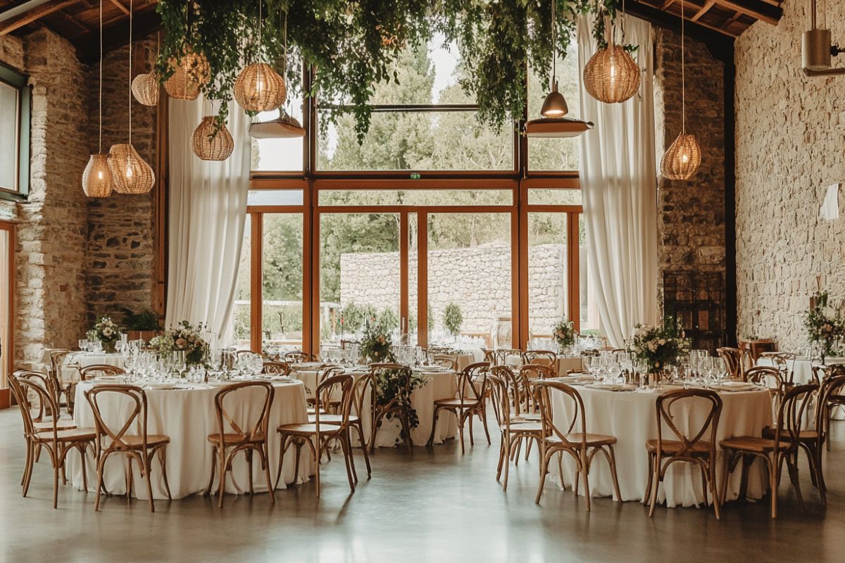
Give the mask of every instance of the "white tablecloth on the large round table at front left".
[{"label": "white tablecloth on the large round table at front left", "polygon": [[[76,409],[74,409],[74,421],[79,427],[93,427],[94,414],[91,412],[90,404],[85,399],[85,390],[95,385],[94,382],[80,382],[76,387]],[[207,436],[217,433],[217,415],[215,412],[214,398],[221,387],[205,386],[202,383],[193,384],[193,389],[178,390],[145,390],[147,396],[147,433],[166,434],[170,436],[170,443],[167,444],[167,479],[170,483],[170,490],[174,499],[193,495],[203,491],[207,486],[211,472],[211,446]],[[270,477],[275,479],[276,468],[279,467],[279,447],[281,442],[276,427],[283,424],[306,422],[308,414],[305,405],[305,387],[302,382],[293,381],[290,383],[274,383],[275,394],[273,404],[270,408]],[[240,409],[231,409],[230,414],[240,424],[247,420],[254,420],[257,413],[264,404],[263,389],[249,389],[248,391],[236,392],[243,398]],[[231,396],[230,396],[231,397]],[[100,396],[100,409],[106,424],[123,425],[128,409],[132,408],[131,399],[116,394]],[[230,398],[226,398],[226,405]],[[237,417],[243,417],[238,420]],[[119,428],[119,426],[117,427]],[[294,476],[293,450],[289,450],[285,456],[285,466],[282,470],[282,479],[279,488],[284,488],[286,483],[291,483]],[[91,456],[88,456],[88,486],[89,490],[95,491],[96,468]],[[134,489],[139,498],[145,499],[146,487],[140,478],[137,463],[134,467]],[[299,478],[308,479],[312,472],[310,453],[303,452],[300,457]],[[124,482],[124,468],[126,467],[125,456],[115,455],[109,457],[106,462],[105,483],[106,489],[112,494],[126,492]],[[68,456],[68,468],[70,478],[77,487],[82,487],[82,469],[79,464],[79,456]],[[235,485],[232,485],[230,476],[226,477],[227,493],[242,493],[248,490],[247,462],[243,454],[238,454],[232,463]],[[217,474],[219,477],[219,474]],[[153,459],[153,498],[166,499],[164,481],[161,479],[161,465],[158,457]],[[264,480],[264,472],[261,471],[261,464],[258,457],[253,455],[253,477],[254,490],[262,492],[267,490]],[[216,478],[215,478],[216,480]],[[215,484],[216,490],[216,484]]]}]

